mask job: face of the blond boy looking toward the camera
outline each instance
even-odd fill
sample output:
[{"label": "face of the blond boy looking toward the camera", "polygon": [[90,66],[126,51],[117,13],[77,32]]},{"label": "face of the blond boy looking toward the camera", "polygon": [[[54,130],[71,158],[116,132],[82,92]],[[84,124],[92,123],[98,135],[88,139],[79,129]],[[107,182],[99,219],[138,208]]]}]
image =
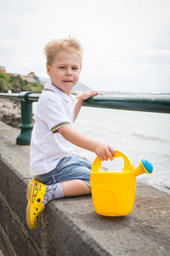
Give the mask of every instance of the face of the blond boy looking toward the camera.
[{"label": "face of the blond boy looking toward the camera", "polygon": [[50,66],[47,64],[46,67],[51,84],[69,96],[81,72],[79,55],[60,51],[55,55],[53,63]]}]

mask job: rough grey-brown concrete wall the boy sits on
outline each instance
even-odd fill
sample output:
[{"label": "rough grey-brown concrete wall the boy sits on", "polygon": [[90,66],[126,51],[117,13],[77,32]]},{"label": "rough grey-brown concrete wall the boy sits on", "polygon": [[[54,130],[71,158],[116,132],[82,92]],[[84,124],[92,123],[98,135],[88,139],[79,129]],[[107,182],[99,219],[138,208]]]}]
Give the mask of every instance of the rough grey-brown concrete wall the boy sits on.
[{"label": "rough grey-brown concrete wall the boy sits on", "polygon": [[[133,212],[102,217],[91,196],[50,201],[37,230],[26,224],[29,147],[0,122],[0,238],[6,255],[168,255],[170,195],[138,183]],[[1,250],[2,248],[0,248]]]}]

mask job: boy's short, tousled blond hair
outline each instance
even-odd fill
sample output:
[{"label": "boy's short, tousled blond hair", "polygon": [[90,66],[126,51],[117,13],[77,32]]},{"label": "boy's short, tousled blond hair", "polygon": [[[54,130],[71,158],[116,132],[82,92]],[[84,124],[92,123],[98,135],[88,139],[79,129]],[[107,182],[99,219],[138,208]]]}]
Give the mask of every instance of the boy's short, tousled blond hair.
[{"label": "boy's short, tousled blond hair", "polygon": [[82,67],[82,46],[77,39],[71,37],[69,39],[53,39],[45,45],[44,53],[49,66],[53,63],[54,56],[62,50],[70,53],[77,53],[80,57],[80,65]]}]

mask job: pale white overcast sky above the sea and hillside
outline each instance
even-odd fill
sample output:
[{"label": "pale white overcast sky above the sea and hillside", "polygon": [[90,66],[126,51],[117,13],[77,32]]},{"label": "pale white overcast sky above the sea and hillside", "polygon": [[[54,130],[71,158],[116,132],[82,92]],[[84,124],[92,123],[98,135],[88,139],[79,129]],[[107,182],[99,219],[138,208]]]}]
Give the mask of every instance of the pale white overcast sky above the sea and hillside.
[{"label": "pale white overcast sky above the sea and hillside", "polygon": [[170,92],[170,0],[0,0],[0,66],[48,77],[43,47],[79,39],[80,82],[94,90]]}]

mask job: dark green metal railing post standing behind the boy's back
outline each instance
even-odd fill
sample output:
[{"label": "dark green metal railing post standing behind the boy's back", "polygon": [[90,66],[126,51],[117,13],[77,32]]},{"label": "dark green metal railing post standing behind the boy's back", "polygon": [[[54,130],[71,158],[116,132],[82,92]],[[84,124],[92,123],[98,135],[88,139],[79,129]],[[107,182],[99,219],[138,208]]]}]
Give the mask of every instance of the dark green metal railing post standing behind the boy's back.
[{"label": "dark green metal railing post standing behind the boy's back", "polygon": [[22,91],[18,96],[20,99],[21,119],[20,119],[20,135],[16,138],[18,145],[30,145],[32,131],[32,104],[28,100],[31,91]]}]

